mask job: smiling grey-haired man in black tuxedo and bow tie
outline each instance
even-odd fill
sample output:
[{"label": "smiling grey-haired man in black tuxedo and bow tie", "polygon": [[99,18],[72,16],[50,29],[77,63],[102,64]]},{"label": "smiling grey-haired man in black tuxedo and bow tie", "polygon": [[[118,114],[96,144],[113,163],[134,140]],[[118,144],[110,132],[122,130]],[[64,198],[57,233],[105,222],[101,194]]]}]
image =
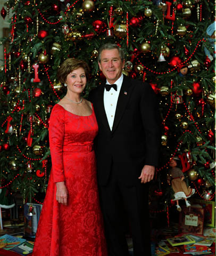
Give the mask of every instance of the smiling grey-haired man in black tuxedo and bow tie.
[{"label": "smiling grey-haired man in black tuxedo and bow tie", "polygon": [[152,87],[122,74],[124,52],[116,44],[98,51],[106,84],[89,94],[98,122],[97,177],[109,256],[128,256],[129,221],[134,256],[150,256],[148,182],[159,156],[160,129]]}]

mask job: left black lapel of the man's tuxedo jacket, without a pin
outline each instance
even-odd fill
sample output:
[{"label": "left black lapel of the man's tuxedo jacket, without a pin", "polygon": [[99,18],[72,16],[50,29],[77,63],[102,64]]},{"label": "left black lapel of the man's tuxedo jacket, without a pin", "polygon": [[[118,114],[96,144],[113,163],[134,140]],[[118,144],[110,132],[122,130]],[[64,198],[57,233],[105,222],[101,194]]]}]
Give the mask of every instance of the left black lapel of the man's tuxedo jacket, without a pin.
[{"label": "left black lapel of the man's tuxedo jacket, without a pin", "polygon": [[101,120],[107,131],[111,132],[104,108],[104,86],[99,88],[97,104],[98,106],[96,109],[99,116],[98,120]]}]

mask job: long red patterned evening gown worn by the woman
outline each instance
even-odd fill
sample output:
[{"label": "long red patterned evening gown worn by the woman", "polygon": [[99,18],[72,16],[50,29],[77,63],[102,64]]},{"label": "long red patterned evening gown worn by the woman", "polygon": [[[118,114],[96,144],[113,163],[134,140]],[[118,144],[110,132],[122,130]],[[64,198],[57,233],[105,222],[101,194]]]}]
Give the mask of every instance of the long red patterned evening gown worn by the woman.
[{"label": "long red patterned evening gown worn by the woman", "polygon": [[[106,256],[99,207],[93,140],[94,113],[78,116],[59,104],[49,119],[52,170],[40,214],[34,256]],[[55,182],[64,181],[68,205],[55,199]]]}]

